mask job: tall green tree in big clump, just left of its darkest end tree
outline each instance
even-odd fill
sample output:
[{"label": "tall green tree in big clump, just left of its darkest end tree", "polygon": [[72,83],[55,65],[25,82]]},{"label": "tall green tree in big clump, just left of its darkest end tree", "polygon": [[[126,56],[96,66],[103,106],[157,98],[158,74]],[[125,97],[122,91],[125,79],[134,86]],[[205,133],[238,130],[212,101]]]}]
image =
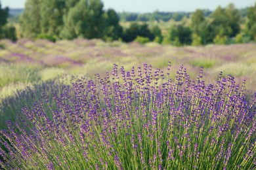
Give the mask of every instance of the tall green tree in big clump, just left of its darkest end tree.
[{"label": "tall green tree in big clump, just left of its darkest end tree", "polygon": [[103,14],[103,4],[99,0],[80,0],[64,17],[60,36],[63,39],[103,38],[106,33],[106,18]]}]

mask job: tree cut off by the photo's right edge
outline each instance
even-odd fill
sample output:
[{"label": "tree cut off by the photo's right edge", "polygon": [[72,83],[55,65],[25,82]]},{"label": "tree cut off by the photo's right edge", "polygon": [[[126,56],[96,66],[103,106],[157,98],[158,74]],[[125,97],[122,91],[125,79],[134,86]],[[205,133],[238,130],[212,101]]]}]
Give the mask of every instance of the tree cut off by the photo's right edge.
[{"label": "tree cut off by the photo's right edge", "polygon": [[247,33],[249,33],[251,39],[256,40],[256,3],[253,7],[249,7],[247,11],[247,19]]}]

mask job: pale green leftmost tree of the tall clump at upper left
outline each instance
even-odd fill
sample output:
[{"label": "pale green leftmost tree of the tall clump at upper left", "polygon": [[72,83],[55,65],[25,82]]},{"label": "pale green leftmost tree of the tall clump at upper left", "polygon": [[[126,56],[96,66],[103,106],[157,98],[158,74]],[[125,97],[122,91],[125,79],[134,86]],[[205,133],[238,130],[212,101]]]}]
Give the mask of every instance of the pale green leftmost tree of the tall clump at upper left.
[{"label": "pale green leftmost tree of the tall clump at upper left", "polygon": [[24,12],[20,16],[20,33],[22,37],[35,38],[41,33],[40,5],[42,0],[27,0]]}]

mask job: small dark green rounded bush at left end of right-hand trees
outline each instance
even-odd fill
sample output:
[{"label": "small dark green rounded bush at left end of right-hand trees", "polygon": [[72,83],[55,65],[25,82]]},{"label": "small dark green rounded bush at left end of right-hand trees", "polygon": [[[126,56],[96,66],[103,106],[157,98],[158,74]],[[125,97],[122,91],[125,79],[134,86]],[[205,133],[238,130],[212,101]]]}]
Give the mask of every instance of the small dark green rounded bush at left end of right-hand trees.
[{"label": "small dark green rounded bush at left end of right-hand trees", "polygon": [[189,27],[179,24],[171,29],[170,37],[176,46],[189,45],[192,42],[192,31]]}]

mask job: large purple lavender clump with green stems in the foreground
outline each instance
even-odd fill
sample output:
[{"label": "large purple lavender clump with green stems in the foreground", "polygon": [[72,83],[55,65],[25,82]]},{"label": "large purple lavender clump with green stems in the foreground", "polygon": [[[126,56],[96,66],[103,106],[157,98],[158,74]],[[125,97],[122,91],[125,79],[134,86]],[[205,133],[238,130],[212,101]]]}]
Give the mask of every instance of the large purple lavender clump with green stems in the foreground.
[{"label": "large purple lavender clump with green stems in the foreground", "polygon": [[[170,70],[168,65],[167,70]],[[75,97],[35,103],[25,131],[1,131],[4,169],[255,169],[256,93],[219,77],[205,86],[182,66],[175,81],[151,65],[74,82]],[[45,110],[51,110],[53,119]],[[29,126],[29,125],[28,125]],[[5,151],[8,150],[8,151]]]}]

